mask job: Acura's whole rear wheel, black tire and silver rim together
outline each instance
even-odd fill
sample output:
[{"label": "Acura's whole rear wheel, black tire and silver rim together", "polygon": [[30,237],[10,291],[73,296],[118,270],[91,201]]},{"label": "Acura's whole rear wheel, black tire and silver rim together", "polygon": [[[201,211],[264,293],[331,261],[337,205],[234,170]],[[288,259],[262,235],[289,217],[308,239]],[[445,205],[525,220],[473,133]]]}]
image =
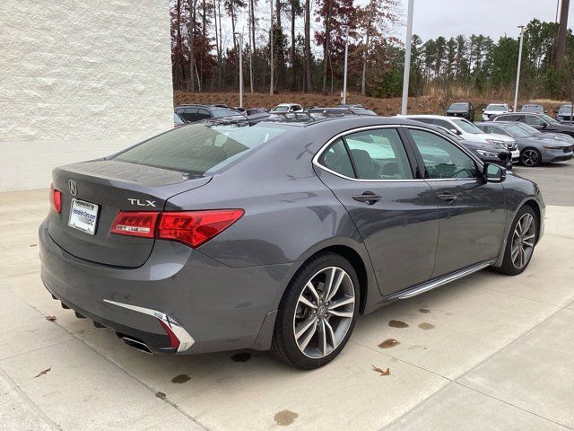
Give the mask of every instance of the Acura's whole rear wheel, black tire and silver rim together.
[{"label": "Acura's whole rear wheel, black tire and silver rim together", "polygon": [[359,280],[335,253],[307,262],[279,306],[271,350],[289,365],[326,365],[343,349],[359,311]]}]

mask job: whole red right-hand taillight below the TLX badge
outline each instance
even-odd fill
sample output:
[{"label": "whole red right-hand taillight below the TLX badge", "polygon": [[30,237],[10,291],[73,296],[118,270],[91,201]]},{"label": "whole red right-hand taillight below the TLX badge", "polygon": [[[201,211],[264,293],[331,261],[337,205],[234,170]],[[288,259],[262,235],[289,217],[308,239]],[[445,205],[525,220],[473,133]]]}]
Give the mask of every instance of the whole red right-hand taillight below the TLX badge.
[{"label": "whole red right-hand taillight below the TLX badge", "polygon": [[237,222],[243,214],[242,209],[164,213],[120,211],[111,233],[183,242],[196,249]]}]

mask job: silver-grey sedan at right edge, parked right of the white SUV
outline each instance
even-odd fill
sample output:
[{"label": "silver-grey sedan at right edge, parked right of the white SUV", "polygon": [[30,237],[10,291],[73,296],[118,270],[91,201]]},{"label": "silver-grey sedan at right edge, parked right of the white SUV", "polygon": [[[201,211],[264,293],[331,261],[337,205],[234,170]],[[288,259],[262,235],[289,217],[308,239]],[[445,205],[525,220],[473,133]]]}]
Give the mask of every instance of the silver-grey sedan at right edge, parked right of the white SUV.
[{"label": "silver-grey sedan at right edge, parked right of the white SUV", "polygon": [[572,158],[572,145],[561,140],[547,137],[538,139],[522,128],[516,122],[490,121],[480,126],[487,133],[508,135],[517,141],[520,151],[520,163],[525,166],[538,166],[542,163],[564,162]]}]

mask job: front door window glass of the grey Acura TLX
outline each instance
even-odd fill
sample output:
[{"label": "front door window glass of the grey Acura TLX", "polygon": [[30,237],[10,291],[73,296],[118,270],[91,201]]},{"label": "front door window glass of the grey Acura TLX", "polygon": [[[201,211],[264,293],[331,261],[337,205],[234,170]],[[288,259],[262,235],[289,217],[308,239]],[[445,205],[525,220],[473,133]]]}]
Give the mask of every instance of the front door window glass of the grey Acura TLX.
[{"label": "front door window glass of the grey Acura TLX", "polygon": [[478,176],[474,160],[448,140],[418,129],[409,129],[413,141],[422,154],[426,178],[475,178]]}]

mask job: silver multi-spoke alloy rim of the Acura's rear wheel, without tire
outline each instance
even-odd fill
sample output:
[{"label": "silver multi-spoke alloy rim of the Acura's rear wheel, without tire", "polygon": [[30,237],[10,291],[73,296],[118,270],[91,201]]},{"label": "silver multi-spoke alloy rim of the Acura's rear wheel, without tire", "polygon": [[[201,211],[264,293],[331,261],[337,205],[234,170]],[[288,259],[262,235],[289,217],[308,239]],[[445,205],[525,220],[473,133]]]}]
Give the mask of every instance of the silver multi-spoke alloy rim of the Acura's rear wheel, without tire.
[{"label": "silver multi-spoke alloy rim of the Acura's rear wheel, without tire", "polygon": [[344,340],[355,308],[352,279],[343,268],[318,271],[303,287],[293,316],[293,334],[300,352],[318,359]]}]

